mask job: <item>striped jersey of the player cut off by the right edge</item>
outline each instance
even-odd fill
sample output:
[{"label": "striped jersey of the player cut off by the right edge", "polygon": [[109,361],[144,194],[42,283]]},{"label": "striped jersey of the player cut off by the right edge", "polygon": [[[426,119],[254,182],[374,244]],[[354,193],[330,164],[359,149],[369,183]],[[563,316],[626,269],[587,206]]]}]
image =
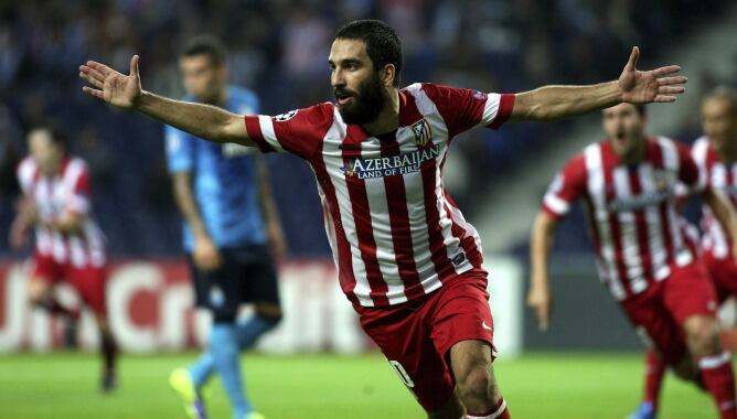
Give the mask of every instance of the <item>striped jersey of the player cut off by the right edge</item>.
[{"label": "striped jersey of the player cut off by the right edge", "polygon": [[[719,160],[713,143],[706,138],[697,139],[691,154],[696,161],[701,172],[703,186],[714,187],[722,191],[731,202],[737,205],[737,161],[725,163]],[[704,214],[702,228],[702,248],[718,259],[726,259],[731,255],[731,241],[719,221],[714,216],[708,205],[702,206]]]}]

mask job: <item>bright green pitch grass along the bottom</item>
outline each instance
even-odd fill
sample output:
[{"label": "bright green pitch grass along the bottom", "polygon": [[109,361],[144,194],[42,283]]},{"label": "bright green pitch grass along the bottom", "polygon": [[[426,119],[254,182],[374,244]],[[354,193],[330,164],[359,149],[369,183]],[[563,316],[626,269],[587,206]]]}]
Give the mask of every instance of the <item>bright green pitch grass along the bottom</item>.
[{"label": "bright green pitch grass along the bottom", "polygon": [[[183,418],[169,372],[196,356],[126,355],[120,387],[97,390],[94,354],[0,355],[0,418]],[[248,394],[269,419],[424,418],[378,355],[244,356]],[[640,397],[642,362],[632,354],[528,354],[495,363],[514,418],[623,418]],[[231,418],[217,380],[211,418]],[[669,377],[661,418],[716,418],[711,399]]]}]

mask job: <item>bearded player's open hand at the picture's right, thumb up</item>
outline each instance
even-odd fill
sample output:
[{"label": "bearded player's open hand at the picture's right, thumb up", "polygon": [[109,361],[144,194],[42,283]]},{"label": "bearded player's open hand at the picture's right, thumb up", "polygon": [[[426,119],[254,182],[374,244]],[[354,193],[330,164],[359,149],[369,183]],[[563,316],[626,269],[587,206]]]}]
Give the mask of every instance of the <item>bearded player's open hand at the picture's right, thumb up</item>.
[{"label": "bearded player's open hand at the picture's right, thumb up", "polygon": [[670,76],[681,71],[677,65],[669,65],[652,71],[639,71],[635,68],[640,49],[632,47],[630,60],[627,62],[622,74],[619,76],[619,89],[622,101],[630,104],[650,104],[675,101],[675,96],[684,93],[681,86],[688,82],[683,76]]}]

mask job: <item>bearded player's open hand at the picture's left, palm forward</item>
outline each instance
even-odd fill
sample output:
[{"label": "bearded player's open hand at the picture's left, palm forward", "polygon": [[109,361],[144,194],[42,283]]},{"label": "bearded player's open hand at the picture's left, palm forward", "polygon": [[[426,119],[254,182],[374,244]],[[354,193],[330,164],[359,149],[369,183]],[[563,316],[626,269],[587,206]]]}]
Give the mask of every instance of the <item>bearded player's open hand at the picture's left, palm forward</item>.
[{"label": "bearded player's open hand at the picture's left, palm forward", "polygon": [[105,64],[88,61],[79,66],[79,77],[93,87],[84,86],[82,90],[119,108],[135,108],[142,94],[138,61],[138,55],[130,58],[130,74],[127,76]]}]

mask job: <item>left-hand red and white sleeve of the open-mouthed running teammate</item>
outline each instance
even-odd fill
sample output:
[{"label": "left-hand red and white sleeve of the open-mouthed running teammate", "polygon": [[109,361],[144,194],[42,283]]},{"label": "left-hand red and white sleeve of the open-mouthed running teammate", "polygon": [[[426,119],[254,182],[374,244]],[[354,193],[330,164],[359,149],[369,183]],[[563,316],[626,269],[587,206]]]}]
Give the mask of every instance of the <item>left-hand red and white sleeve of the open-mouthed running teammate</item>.
[{"label": "left-hand red and white sleeve of the open-mouthed running teammate", "polygon": [[547,187],[542,210],[555,219],[563,218],[585,190],[586,163],[584,155],[577,155],[566,164]]}]

